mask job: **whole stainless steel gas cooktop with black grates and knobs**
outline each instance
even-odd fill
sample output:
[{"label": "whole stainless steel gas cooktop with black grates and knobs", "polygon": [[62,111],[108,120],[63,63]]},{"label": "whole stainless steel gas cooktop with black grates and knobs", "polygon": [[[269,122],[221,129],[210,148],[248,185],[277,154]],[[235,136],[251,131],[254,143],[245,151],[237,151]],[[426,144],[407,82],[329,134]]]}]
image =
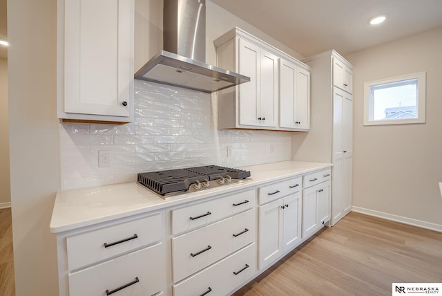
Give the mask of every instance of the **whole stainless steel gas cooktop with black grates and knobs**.
[{"label": "whole stainless steel gas cooktop with black grates and knobs", "polygon": [[198,192],[251,180],[250,172],[242,169],[205,165],[185,169],[169,169],[159,172],[140,173],[137,182],[161,196],[176,193]]}]

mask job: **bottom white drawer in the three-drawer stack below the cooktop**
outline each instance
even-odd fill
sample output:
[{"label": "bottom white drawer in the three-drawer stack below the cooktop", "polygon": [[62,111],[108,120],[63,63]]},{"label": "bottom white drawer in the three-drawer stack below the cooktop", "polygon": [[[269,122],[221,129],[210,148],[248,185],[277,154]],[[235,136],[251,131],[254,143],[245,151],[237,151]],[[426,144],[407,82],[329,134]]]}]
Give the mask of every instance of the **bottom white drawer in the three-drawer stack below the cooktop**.
[{"label": "bottom white drawer in the three-drawer stack below the cooktop", "polygon": [[174,296],[227,295],[231,290],[244,284],[256,272],[256,244],[213,264],[180,284],[173,286]]}]

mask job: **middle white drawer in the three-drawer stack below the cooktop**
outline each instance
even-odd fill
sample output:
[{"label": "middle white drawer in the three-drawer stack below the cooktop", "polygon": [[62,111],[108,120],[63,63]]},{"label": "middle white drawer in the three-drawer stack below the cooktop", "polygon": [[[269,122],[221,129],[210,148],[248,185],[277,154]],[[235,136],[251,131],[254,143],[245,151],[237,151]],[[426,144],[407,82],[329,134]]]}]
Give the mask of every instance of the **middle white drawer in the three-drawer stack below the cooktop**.
[{"label": "middle white drawer in the three-drawer stack below the cooktop", "polygon": [[255,241],[255,209],[172,239],[173,282]]}]

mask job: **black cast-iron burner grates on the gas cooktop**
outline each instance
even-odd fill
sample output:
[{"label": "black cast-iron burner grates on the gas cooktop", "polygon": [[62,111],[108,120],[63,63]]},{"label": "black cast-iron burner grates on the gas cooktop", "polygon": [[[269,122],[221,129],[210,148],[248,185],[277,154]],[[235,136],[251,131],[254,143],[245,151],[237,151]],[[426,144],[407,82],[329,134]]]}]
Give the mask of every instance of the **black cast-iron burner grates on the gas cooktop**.
[{"label": "black cast-iron burner grates on the gas cooktop", "polygon": [[233,179],[242,179],[250,176],[250,172],[242,169],[231,169],[218,165],[206,165],[202,167],[188,167],[186,169],[169,169],[159,172],[140,173],[137,182],[157,194],[169,194],[171,192],[184,191],[196,181],[215,180],[227,175]]}]

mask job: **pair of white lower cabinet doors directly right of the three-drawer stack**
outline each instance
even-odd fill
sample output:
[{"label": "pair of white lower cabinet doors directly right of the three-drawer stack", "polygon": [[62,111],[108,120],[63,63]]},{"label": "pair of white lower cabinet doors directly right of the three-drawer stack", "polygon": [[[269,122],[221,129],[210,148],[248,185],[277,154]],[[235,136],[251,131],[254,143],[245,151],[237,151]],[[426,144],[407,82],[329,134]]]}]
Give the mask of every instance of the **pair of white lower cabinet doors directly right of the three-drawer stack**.
[{"label": "pair of white lower cabinet doors directly right of the three-drawer stack", "polygon": [[[277,183],[275,186],[282,184],[284,183]],[[258,238],[260,269],[269,266],[287,250],[295,248],[300,243],[301,219],[301,191],[260,205]]]}]

